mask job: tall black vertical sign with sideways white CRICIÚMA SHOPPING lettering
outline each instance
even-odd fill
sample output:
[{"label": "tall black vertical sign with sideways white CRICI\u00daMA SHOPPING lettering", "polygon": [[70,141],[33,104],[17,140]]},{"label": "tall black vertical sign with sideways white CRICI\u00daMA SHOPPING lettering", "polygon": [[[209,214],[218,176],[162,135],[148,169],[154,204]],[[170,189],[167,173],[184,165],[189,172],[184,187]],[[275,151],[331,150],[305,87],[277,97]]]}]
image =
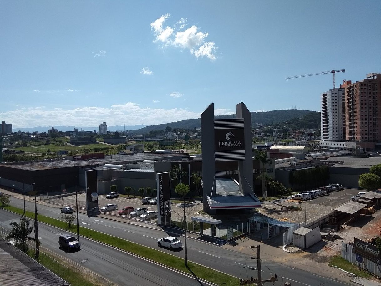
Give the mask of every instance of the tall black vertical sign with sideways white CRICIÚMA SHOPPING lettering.
[{"label": "tall black vertical sign with sideways white CRICI\u00daMA SHOPPING lettering", "polygon": [[171,189],[169,172],[156,174],[157,188],[157,223],[170,225],[171,223]]}]

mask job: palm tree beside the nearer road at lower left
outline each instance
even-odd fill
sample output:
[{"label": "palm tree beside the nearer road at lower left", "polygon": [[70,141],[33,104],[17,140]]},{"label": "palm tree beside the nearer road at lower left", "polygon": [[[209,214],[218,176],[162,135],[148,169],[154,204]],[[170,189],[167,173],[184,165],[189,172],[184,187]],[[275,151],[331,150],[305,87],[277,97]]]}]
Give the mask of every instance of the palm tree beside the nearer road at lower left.
[{"label": "palm tree beside the nearer road at lower left", "polygon": [[30,237],[30,234],[33,231],[33,225],[29,226],[29,224],[30,219],[25,217],[20,219],[20,224],[11,222],[10,225],[12,226],[12,229],[10,234],[6,236],[6,239],[14,239],[16,247],[21,249],[22,252],[27,252],[29,249],[28,244],[26,243],[27,240],[38,243],[38,245],[41,244],[38,240],[36,241],[35,238]]}]

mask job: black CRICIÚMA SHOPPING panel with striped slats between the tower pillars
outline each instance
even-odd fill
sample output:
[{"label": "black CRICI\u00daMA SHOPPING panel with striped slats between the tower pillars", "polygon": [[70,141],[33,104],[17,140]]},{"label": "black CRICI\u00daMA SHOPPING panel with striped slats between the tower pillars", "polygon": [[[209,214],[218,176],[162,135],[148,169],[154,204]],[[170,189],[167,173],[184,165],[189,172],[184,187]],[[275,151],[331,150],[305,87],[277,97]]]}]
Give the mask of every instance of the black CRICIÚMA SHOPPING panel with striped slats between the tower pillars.
[{"label": "black CRICI\u00daMA SHOPPING panel with striped slats between the tower pillars", "polygon": [[245,119],[215,119],[215,161],[245,160]]}]

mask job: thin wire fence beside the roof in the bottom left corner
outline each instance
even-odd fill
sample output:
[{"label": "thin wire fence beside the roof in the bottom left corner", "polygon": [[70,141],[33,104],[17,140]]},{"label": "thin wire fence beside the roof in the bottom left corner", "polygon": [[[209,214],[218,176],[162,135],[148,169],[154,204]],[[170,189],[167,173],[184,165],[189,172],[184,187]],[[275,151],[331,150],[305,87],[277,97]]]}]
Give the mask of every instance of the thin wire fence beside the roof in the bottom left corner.
[{"label": "thin wire fence beside the roof in the bottom left corner", "polygon": [[[0,227],[0,239],[3,239],[7,245],[12,247],[13,249],[16,249],[21,255],[26,257],[31,263],[33,263],[38,269],[41,269],[41,273],[46,273],[49,276],[49,280],[54,280],[55,285],[70,285],[70,272],[69,268],[65,265],[61,264],[57,260],[53,259],[49,255],[45,254],[42,251],[39,251],[40,255],[38,259],[35,259],[36,254],[36,248],[33,244],[30,244],[26,241],[23,241],[22,239],[17,238],[16,236],[11,236],[10,238],[7,238],[8,235],[11,235],[11,233],[6,230],[3,227]],[[29,251],[28,253],[22,252],[20,249],[18,249],[14,244],[16,244],[16,240],[20,242],[24,242]],[[46,276],[45,274],[45,276]],[[37,276],[36,276],[37,277]],[[65,281],[65,280],[66,281]]]}]

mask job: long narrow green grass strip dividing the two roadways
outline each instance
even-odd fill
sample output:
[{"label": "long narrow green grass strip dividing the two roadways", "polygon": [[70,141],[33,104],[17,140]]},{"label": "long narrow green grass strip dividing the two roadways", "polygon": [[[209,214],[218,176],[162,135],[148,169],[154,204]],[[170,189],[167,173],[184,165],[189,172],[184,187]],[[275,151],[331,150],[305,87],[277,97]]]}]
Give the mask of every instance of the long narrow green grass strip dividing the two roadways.
[{"label": "long narrow green grass strip dividing the two roadways", "polygon": [[[10,210],[15,212],[16,214],[22,215],[24,210],[19,209],[13,206],[4,206],[3,209]],[[26,217],[34,218],[34,213],[27,211],[25,213]],[[49,225],[53,225],[58,228],[67,229],[67,223],[62,220],[53,219],[51,217],[46,217],[45,215],[38,215],[38,221],[44,222]],[[141,257],[153,260],[160,264],[166,265],[168,267],[174,268],[176,270],[180,270],[182,272],[188,273],[191,276],[195,276],[197,278],[207,280],[211,283],[215,283],[217,285],[239,285],[240,281],[238,278],[227,275],[225,273],[213,270],[211,268],[205,267],[200,264],[196,264],[194,262],[188,261],[188,267],[184,264],[184,259],[167,254],[162,251],[158,251],[156,249],[152,249],[146,246],[142,246],[137,243],[133,243],[131,241],[117,238],[115,236],[107,235],[105,233],[100,233],[95,230],[90,230],[88,228],[79,227],[80,235],[94,239],[96,241],[109,244],[111,246],[115,246],[117,248],[123,249],[125,251],[131,252],[133,254],[139,255]],[[69,230],[76,231],[77,225],[72,225]]]}]

